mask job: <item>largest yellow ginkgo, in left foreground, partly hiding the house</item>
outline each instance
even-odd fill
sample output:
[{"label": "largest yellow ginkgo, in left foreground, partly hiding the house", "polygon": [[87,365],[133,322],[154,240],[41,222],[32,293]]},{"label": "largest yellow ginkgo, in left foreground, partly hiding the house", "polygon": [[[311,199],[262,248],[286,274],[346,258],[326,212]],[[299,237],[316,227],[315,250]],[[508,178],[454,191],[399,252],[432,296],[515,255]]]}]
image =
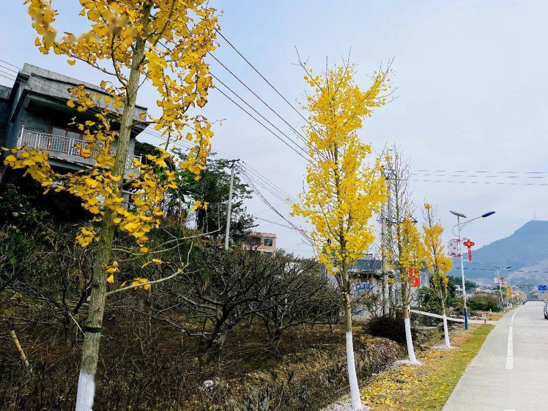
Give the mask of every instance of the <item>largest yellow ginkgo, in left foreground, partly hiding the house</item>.
[{"label": "largest yellow ginkgo, in left foreground, partly hiding the house", "polygon": [[[52,0],[25,0],[38,36],[35,44],[44,54],[64,55],[68,64],[88,64],[108,78],[101,82],[105,95],[88,92],[84,85],[69,91],[67,105],[78,112],[93,112],[95,119],[75,124],[85,135],[78,147],[84,158],[96,163],[89,172],[56,173],[47,153],[14,147],[4,164],[37,180],[45,190],[68,191],[94,215],[93,224],[83,227],[77,240],[82,247],[96,243],[92,291],[82,347],[78,380],[77,409],[90,409],[94,398],[106,284],[115,281],[117,262],[111,261],[115,226],[135,238],[144,255],[149,233],[161,222],[161,201],[175,188],[174,171],[166,169],[159,178],[156,167],[167,162],[195,173],[199,178],[206,164],[212,138],[211,124],[191,110],[207,103],[212,77],[204,58],[216,47],[218,15],[204,0],[80,0],[79,13],[89,30],[74,35],[55,26],[57,11]],[[60,2],[65,3],[65,2]],[[59,4],[60,4],[59,3]],[[157,90],[159,115],[134,120],[139,88],[147,81]],[[132,127],[137,123],[153,127],[167,140],[149,164],[134,160],[139,172],[125,175]],[[168,153],[169,141],[187,139],[194,143],[184,161]],[[129,193],[132,207],[124,204]],[[146,287],[149,281],[135,279],[124,287]]]}]

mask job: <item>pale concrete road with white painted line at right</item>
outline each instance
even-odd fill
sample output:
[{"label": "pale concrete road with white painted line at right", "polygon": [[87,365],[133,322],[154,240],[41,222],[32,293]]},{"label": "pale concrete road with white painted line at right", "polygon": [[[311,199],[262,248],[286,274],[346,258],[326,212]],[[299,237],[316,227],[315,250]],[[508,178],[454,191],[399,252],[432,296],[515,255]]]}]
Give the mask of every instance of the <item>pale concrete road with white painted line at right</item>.
[{"label": "pale concrete road with white painted line at right", "polygon": [[548,410],[548,321],[541,301],[499,319],[443,410]]}]

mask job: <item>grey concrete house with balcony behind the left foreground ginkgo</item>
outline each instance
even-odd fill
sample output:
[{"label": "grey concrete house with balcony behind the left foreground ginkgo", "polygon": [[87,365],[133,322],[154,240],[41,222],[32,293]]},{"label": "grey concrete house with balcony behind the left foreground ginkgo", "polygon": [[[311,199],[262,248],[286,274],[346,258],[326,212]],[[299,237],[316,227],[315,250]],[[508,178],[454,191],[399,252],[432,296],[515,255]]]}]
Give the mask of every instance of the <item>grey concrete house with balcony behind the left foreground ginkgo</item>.
[{"label": "grey concrete house with balcony behind the left foreground ginkgo", "polygon": [[[12,88],[0,86],[0,146],[26,145],[48,151],[49,164],[54,169],[74,171],[93,165],[95,160],[79,156],[79,149],[75,147],[84,141],[82,132],[75,125],[68,125],[74,117],[76,123],[96,119],[94,110],[78,112],[66,104],[71,99],[68,89],[79,84],[83,84],[88,93],[106,95],[96,85],[25,64]],[[122,109],[112,110],[121,113]],[[139,121],[142,113],[146,113],[146,108],[136,106],[135,121]],[[119,124],[112,124],[113,129],[117,126]],[[132,128],[126,174],[134,172],[135,137],[144,128],[144,124]]]}]

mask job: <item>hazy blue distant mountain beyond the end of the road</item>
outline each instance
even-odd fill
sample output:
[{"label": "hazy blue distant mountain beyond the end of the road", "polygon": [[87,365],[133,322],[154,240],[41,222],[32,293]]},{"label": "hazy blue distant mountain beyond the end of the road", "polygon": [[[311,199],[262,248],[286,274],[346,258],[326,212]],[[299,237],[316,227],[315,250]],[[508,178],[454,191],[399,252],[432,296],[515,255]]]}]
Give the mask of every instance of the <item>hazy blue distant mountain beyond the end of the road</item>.
[{"label": "hazy blue distant mountain beyond the end of the road", "polygon": [[[464,254],[465,276],[493,284],[496,269],[511,266],[510,272],[502,275],[512,284],[546,284],[548,273],[521,271],[548,271],[548,221],[532,220],[516,230],[511,236],[494,241],[472,251],[472,262]],[[449,275],[460,275],[460,259],[453,259],[453,270]]]}]

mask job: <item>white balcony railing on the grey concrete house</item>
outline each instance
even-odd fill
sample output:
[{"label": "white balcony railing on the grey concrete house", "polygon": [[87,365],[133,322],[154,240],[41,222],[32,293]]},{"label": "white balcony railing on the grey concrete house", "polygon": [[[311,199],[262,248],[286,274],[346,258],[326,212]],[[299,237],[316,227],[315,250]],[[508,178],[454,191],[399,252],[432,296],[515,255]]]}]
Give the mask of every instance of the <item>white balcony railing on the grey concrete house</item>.
[{"label": "white balcony railing on the grey concrete house", "polygon": [[[62,153],[68,156],[79,157],[82,161],[83,157],[80,157],[80,149],[77,145],[82,145],[83,140],[68,138],[65,136],[47,134],[47,133],[38,133],[33,132],[32,130],[27,130],[25,128],[21,129],[21,134],[17,141],[18,146],[27,146],[30,149],[40,149],[48,151],[53,157],[55,153]],[[110,154],[112,156],[116,155],[116,150],[111,150]],[[66,161],[71,161],[70,159],[64,158]],[[128,156],[127,161],[125,162],[125,169],[134,170],[135,166],[133,165],[133,159],[136,158],[141,161],[140,156]],[[72,161],[78,162],[78,159],[73,159]]]}]

